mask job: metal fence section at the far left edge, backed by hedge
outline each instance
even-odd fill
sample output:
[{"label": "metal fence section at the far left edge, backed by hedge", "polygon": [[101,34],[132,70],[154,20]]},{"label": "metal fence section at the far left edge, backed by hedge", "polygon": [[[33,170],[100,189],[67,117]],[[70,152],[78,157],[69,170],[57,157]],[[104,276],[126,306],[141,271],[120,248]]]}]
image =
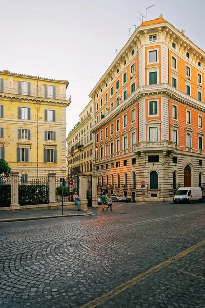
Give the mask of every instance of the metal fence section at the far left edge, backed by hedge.
[{"label": "metal fence section at the far left edge, backed by hedge", "polygon": [[11,178],[0,177],[0,207],[11,205]]}]

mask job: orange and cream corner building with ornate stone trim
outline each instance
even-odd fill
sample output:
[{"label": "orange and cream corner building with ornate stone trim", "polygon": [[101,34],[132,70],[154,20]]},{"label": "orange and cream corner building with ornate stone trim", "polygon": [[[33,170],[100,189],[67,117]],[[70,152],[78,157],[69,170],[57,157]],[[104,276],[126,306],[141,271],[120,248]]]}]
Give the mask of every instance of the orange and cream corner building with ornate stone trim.
[{"label": "orange and cream corner building with ornate stone trim", "polygon": [[142,23],[91,91],[98,192],[170,200],[203,187],[205,53],[184,32]]}]

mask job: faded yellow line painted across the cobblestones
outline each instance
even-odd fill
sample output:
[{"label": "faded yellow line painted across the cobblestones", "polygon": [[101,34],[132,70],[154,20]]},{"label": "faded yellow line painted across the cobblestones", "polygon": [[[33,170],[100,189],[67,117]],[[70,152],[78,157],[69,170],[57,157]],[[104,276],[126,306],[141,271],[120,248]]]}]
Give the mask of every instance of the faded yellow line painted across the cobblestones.
[{"label": "faded yellow line painted across the cobblestones", "polygon": [[139,281],[149,277],[150,275],[153,275],[154,273],[160,271],[160,269],[167,267],[169,264],[176,262],[177,260],[179,260],[180,258],[186,256],[188,253],[193,252],[196,248],[202,246],[205,244],[205,240],[203,240],[202,242],[191,246],[190,248],[186,249],[185,251],[179,253],[178,255],[168,259],[167,261],[160,263],[159,265],[149,269],[149,271],[142,273],[141,275],[119,285],[118,287],[114,288],[114,290],[111,290],[110,292],[94,299],[93,301],[81,306],[80,308],[95,308],[101,304],[103,304],[105,301],[109,300],[110,298],[112,298],[113,296],[119,294],[122,291],[125,291],[127,288],[129,288],[130,286],[138,283]]}]

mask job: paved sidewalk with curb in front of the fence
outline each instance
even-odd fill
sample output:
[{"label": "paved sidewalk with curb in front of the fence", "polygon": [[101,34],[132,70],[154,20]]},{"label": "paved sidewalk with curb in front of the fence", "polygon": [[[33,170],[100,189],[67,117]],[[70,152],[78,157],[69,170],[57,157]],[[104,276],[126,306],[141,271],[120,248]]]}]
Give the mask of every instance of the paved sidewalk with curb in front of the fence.
[{"label": "paved sidewalk with curb in front of the fence", "polygon": [[55,217],[68,217],[68,216],[85,216],[92,215],[91,211],[86,210],[22,210],[22,211],[0,211],[0,223],[1,222],[12,222],[12,221],[24,221],[24,220],[35,220],[35,219],[47,219]]}]

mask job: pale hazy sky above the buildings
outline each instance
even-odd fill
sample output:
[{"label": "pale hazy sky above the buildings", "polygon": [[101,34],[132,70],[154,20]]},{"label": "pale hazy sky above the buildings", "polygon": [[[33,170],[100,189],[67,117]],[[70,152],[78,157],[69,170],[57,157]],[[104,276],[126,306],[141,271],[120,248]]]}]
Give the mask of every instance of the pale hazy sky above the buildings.
[{"label": "pale hazy sky above the buildings", "polygon": [[[205,1],[0,0],[0,70],[68,80],[67,133],[89,103],[89,93],[128,40],[139,12],[163,18],[202,50]],[[144,21],[146,18],[144,19]],[[131,29],[131,34],[134,30]]]}]

